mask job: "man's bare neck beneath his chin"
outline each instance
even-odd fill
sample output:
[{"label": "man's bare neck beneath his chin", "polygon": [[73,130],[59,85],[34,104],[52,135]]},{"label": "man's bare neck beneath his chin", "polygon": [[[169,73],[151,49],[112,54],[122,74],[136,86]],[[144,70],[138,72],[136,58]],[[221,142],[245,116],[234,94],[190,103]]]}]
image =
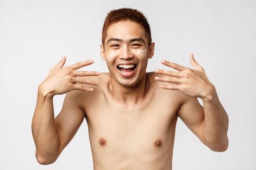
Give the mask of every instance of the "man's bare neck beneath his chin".
[{"label": "man's bare neck beneath his chin", "polygon": [[118,82],[116,82],[116,80],[114,80],[114,78],[110,75],[109,90],[112,93],[114,100],[129,105],[138,104],[138,102],[144,99],[149,88],[149,83],[146,76],[147,75],[145,73],[137,85],[132,87],[124,87],[118,84]]}]

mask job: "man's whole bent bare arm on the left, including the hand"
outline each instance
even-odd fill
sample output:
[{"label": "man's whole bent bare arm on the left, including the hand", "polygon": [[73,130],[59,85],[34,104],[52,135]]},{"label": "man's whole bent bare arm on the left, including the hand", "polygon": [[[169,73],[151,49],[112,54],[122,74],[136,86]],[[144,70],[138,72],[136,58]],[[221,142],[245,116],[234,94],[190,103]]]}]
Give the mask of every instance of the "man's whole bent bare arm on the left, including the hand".
[{"label": "man's whole bent bare arm on the left, including the hand", "polygon": [[[97,81],[87,76],[98,76],[97,71],[76,71],[94,63],[93,60],[64,67],[62,57],[38,88],[38,100],[32,120],[32,135],[36,144],[36,158],[40,164],[52,164],[77,133],[84,119],[84,110],[79,104],[81,91],[92,92]],[[86,86],[84,86],[86,85]],[[87,85],[91,85],[88,87]],[[53,97],[65,94],[59,115],[54,118]]]}]

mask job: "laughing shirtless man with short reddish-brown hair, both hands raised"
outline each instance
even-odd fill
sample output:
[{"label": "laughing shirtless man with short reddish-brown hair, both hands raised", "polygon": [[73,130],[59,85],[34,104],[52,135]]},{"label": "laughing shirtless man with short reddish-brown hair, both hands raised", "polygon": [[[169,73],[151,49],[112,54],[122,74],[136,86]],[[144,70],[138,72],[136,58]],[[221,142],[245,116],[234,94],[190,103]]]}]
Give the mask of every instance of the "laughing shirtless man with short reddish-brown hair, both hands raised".
[{"label": "laughing shirtless man with short reddish-brown hair, both hands raised", "polygon": [[[171,170],[178,117],[212,151],[227,150],[228,116],[204,69],[191,54],[194,69],[162,61],[169,69],[146,73],[154,45],[142,13],[113,10],[101,44],[109,73],[76,71],[93,60],[63,67],[65,57],[51,69],[39,85],[32,121],[39,164],[56,161],[84,118],[94,170]],[[54,118],[53,97],[64,93]]]}]

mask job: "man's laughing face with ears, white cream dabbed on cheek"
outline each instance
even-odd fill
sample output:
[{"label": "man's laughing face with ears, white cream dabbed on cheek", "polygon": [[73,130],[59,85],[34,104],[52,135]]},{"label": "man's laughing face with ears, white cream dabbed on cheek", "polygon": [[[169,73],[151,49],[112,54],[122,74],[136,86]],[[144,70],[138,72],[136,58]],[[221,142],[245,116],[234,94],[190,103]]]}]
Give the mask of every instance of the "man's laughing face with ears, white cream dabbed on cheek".
[{"label": "man's laughing face with ears, white cream dabbed on cheek", "polygon": [[143,27],[129,20],[114,23],[107,30],[104,44],[101,57],[114,80],[125,87],[137,85],[146,72],[155,45],[151,43],[148,47]]}]

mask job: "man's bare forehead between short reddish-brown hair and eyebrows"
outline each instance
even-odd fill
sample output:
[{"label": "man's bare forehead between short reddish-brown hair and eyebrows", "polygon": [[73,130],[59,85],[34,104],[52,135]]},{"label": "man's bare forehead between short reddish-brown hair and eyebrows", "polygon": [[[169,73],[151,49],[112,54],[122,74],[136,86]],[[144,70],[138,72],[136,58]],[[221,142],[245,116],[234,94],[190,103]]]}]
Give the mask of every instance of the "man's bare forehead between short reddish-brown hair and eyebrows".
[{"label": "man's bare forehead between short reddish-brown hair and eyebrows", "polygon": [[105,42],[109,38],[120,38],[120,39],[132,39],[134,37],[146,38],[144,28],[133,21],[119,21],[111,24],[107,30],[107,36]]}]

